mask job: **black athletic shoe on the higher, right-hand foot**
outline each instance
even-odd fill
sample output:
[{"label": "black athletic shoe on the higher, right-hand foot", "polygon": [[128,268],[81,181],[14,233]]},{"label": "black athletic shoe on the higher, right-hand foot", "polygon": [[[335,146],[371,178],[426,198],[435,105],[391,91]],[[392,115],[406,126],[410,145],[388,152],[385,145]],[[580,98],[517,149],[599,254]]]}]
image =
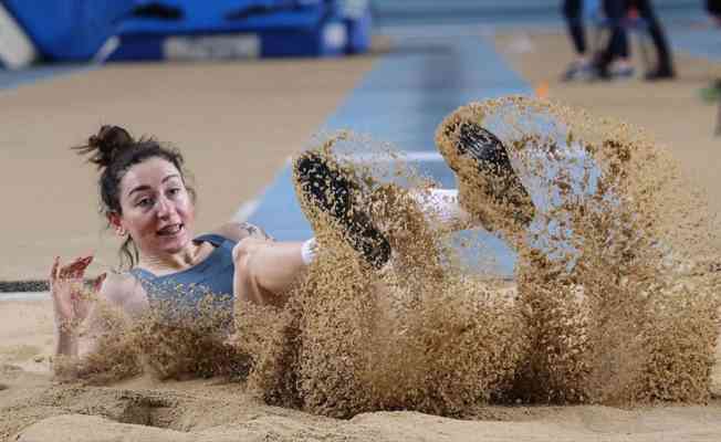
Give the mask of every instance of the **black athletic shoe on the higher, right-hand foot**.
[{"label": "black athletic shoe on the higher, right-hand foot", "polygon": [[[485,180],[487,194],[498,202],[512,204],[510,209],[516,220],[523,224],[530,223],[533,218],[533,202],[513,170],[503,143],[491,131],[471,122],[461,122],[457,127],[449,127],[446,135],[452,140],[458,159],[472,160],[476,171],[489,178]],[[469,179],[462,176],[468,171],[462,170],[461,165],[448,161],[448,166],[460,179]],[[470,179],[472,180],[472,177]]]}]

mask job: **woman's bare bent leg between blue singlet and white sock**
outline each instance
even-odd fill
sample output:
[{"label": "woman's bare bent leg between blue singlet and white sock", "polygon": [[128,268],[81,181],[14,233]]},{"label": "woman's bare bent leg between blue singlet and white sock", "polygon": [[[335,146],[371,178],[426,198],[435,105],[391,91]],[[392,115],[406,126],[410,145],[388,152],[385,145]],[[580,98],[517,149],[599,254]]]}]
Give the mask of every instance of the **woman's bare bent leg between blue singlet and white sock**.
[{"label": "woman's bare bent leg between blue singlet and white sock", "polygon": [[281,306],[289,291],[304,274],[302,242],[274,242],[255,238],[240,241],[233,249],[237,299]]}]

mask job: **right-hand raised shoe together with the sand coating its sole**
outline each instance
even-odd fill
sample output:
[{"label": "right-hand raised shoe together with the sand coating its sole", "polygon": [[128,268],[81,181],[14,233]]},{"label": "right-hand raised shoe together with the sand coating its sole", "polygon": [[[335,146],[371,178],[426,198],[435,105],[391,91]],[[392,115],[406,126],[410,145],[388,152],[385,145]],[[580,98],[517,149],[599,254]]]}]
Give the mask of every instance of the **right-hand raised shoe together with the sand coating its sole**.
[{"label": "right-hand raised shoe together with the sand coating its sole", "polygon": [[[513,169],[506,147],[499,137],[469,118],[467,110],[461,108],[446,118],[436,136],[438,149],[458,178],[461,202],[480,215],[485,210],[478,204],[490,198],[508,215],[527,225],[534,214],[533,202]],[[487,197],[484,201],[469,201],[469,194],[478,193],[474,189]]]}]

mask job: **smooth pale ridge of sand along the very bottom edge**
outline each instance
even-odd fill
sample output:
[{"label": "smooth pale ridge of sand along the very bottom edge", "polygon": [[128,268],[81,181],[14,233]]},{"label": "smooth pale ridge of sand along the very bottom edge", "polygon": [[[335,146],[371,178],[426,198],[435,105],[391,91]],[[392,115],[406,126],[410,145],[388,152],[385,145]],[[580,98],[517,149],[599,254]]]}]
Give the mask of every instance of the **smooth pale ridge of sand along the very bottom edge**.
[{"label": "smooth pale ridge of sand along the very bottom edge", "polygon": [[[508,408],[504,408],[508,413]],[[512,409],[511,409],[512,410]],[[493,413],[493,409],[488,410]],[[501,414],[503,410],[499,410]],[[522,413],[526,415],[521,415]],[[119,423],[108,418],[61,414],[27,428],[18,441],[628,441],[659,439],[715,441],[721,424],[700,407],[655,409],[644,413],[604,407],[519,410],[509,419],[458,421],[416,412],[359,414],[349,421],[318,421],[310,415],[257,413],[233,423],[168,429]],[[513,413],[511,413],[513,414]]]}]

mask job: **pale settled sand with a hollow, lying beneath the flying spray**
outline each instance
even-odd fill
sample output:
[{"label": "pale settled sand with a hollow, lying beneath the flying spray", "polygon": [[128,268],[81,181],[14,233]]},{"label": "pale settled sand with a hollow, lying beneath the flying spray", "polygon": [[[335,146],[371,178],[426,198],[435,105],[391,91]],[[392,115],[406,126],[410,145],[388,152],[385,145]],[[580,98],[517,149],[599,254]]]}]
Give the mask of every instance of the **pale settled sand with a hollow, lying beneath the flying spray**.
[{"label": "pale settled sand with a hollow, lying beneath the flying spray", "polygon": [[[48,388],[48,386],[45,386]],[[606,407],[487,407],[470,420],[417,412],[376,412],[351,420],[318,418],[271,408],[232,387],[188,381],[148,390],[143,387],[50,388],[42,402],[25,401],[11,411],[20,441],[715,441],[721,404],[621,410]],[[32,409],[32,411],[30,410]],[[90,414],[90,415],[88,415]],[[41,417],[45,415],[44,419]],[[3,419],[3,418],[0,418]],[[29,424],[30,422],[33,422]],[[24,425],[23,425],[24,427]],[[3,429],[7,427],[3,422]],[[18,428],[18,427],[15,427]],[[8,440],[7,433],[0,433]]]}]

